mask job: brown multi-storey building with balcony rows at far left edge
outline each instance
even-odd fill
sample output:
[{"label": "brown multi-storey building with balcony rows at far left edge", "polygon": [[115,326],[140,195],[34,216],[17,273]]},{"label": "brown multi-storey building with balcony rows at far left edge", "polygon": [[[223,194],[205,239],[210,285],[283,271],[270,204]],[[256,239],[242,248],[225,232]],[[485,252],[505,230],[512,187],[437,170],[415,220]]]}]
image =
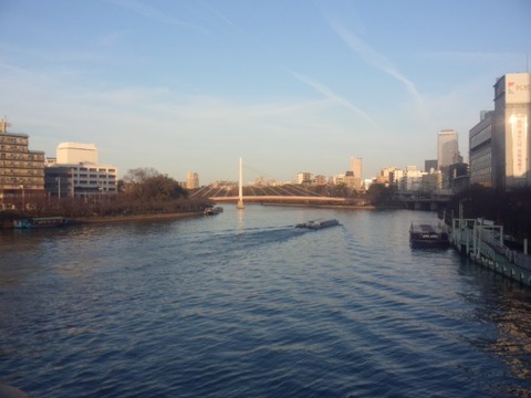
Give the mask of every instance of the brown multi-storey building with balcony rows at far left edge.
[{"label": "brown multi-storey building with balcony rows at far left edge", "polygon": [[0,119],[0,208],[27,208],[44,197],[44,153],[29,149],[27,134],[8,133]]}]

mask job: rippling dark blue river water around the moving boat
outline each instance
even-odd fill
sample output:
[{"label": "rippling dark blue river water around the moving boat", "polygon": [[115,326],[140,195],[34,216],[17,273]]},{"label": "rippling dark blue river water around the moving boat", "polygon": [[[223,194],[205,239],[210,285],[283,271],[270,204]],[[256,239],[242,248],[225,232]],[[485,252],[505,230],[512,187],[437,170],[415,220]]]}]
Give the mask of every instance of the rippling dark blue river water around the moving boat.
[{"label": "rippling dark blue river water around the moving boat", "polygon": [[[320,231],[298,222],[336,218]],[[0,379],[35,397],[530,397],[529,289],[431,212],[226,206],[0,232]]]}]

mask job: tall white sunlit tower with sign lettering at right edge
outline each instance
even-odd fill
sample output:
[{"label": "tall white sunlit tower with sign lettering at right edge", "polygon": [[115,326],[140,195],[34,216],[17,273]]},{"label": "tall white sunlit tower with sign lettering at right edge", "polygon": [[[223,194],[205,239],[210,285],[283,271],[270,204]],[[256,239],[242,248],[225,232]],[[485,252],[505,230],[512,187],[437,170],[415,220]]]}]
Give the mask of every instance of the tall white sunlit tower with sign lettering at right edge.
[{"label": "tall white sunlit tower with sign lettering at right edge", "polygon": [[494,84],[492,178],[497,189],[531,185],[529,119],[531,73],[510,73]]}]

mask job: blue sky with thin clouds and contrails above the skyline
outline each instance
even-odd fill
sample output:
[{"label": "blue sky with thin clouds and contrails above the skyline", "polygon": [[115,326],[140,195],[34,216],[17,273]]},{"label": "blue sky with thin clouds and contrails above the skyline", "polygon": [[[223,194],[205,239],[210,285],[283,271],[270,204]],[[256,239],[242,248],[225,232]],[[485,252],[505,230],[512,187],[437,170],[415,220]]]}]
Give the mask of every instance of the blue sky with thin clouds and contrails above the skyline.
[{"label": "blue sky with thin clouds and contrails above the skyline", "polygon": [[0,0],[0,115],[30,148],[201,184],[424,167],[527,72],[530,0]]}]

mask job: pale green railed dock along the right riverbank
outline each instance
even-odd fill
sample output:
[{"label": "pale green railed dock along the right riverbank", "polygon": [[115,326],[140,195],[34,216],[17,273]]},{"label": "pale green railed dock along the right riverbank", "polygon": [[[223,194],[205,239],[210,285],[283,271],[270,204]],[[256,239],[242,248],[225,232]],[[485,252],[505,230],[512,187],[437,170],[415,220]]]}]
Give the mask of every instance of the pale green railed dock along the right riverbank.
[{"label": "pale green railed dock along the right riverbank", "polygon": [[451,244],[473,262],[531,286],[531,256],[504,244],[503,226],[483,219],[454,219]]}]

